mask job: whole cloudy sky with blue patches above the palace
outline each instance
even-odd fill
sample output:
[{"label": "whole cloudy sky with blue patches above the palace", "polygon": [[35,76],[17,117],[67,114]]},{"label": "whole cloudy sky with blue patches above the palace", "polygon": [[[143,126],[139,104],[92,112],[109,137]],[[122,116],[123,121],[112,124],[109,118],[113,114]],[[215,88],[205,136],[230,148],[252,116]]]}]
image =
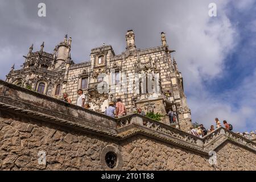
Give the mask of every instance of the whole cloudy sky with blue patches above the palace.
[{"label": "whole cloudy sky with blue patches above the palace", "polygon": [[[47,16],[38,17],[44,2]],[[217,5],[209,17],[208,5]],[[69,20],[69,16],[71,19]],[[256,2],[243,1],[5,1],[0,0],[0,78],[15,63],[19,69],[28,48],[44,50],[72,37],[72,59],[89,60],[90,49],[111,44],[125,50],[125,33],[133,29],[137,48],[160,45],[160,32],[184,77],[192,121],[209,127],[226,119],[234,131],[256,130]]]}]

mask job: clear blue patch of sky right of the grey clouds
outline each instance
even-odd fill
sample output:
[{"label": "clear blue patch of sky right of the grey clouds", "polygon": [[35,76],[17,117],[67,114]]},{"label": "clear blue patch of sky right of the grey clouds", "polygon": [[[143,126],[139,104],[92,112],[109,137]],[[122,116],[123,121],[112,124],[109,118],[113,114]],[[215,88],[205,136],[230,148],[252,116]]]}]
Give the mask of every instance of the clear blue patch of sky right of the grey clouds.
[{"label": "clear blue patch of sky right of the grey clouds", "polygon": [[[236,31],[236,46],[226,53],[220,76],[206,78],[202,85],[213,98],[210,100],[213,103],[208,104],[222,109],[219,111],[222,114],[216,117],[228,118],[230,123],[239,126],[237,131],[250,131],[256,128],[256,4],[255,1],[241,6],[234,3],[226,5],[225,13]],[[188,92],[189,96],[193,97],[193,93]],[[205,123],[209,125],[209,121]]]}]

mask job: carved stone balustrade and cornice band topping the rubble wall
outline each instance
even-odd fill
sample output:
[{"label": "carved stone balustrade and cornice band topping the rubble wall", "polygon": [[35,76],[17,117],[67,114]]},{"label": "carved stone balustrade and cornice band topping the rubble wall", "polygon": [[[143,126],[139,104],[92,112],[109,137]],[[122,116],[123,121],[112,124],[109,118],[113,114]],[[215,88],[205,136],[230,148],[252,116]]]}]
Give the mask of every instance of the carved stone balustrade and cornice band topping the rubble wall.
[{"label": "carved stone balustrade and cornice band topping the rubble wall", "polygon": [[71,127],[74,130],[114,140],[144,135],[203,155],[208,155],[209,151],[216,150],[227,140],[256,152],[255,142],[222,127],[204,138],[198,138],[140,114],[116,119],[1,80],[0,111]]}]

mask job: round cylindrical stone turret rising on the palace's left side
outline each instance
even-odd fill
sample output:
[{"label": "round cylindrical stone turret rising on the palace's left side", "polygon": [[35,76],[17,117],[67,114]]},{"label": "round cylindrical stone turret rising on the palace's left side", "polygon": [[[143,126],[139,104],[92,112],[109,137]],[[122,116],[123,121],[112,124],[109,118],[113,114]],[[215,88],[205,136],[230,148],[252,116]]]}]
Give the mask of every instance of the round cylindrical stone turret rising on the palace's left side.
[{"label": "round cylindrical stone turret rising on the palace's left side", "polygon": [[57,59],[55,63],[55,68],[59,68],[61,64],[68,60],[68,55],[71,50],[71,38],[68,39],[68,35],[65,35],[64,41],[57,46]]}]

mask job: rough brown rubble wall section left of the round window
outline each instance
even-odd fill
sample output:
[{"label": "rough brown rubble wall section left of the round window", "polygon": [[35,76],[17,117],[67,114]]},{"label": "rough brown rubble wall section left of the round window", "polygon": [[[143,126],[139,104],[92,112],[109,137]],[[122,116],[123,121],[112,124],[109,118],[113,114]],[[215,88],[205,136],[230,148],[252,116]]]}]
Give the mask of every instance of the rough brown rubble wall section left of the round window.
[{"label": "rough brown rubble wall section left of the round window", "polygon": [[[0,170],[100,170],[109,141],[28,118],[0,118]],[[46,164],[38,152],[46,152]]]}]

